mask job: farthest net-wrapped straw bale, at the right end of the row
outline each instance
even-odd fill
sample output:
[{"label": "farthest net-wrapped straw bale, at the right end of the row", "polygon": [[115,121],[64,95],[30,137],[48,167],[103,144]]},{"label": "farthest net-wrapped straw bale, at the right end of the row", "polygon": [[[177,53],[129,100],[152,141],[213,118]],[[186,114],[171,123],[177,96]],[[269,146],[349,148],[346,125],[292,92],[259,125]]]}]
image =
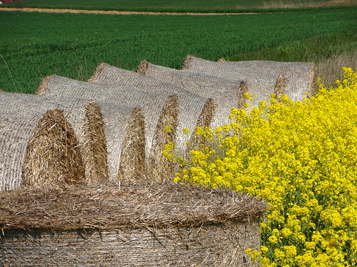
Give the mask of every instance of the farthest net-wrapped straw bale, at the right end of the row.
[{"label": "farthest net-wrapped straw bale, at the right end of the row", "polygon": [[[276,62],[266,60],[250,60],[219,62],[228,66],[249,68],[253,71],[262,71],[270,75],[281,75],[286,79],[286,92],[290,99],[295,101],[303,97],[313,97],[316,94],[316,71],[315,64],[310,62]],[[308,92],[308,94],[304,94]]]}]

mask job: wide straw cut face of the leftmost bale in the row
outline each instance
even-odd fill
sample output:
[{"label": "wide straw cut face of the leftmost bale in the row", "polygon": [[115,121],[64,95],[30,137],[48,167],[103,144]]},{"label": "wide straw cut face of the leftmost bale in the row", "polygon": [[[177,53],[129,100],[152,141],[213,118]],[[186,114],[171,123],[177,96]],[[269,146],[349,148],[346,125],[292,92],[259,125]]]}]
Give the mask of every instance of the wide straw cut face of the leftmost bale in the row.
[{"label": "wide straw cut face of the leftmost bale in the row", "polygon": [[62,110],[50,110],[27,144],[23,186],[72,185],[80,181],[84,181],[84,166],[76,135]]}]

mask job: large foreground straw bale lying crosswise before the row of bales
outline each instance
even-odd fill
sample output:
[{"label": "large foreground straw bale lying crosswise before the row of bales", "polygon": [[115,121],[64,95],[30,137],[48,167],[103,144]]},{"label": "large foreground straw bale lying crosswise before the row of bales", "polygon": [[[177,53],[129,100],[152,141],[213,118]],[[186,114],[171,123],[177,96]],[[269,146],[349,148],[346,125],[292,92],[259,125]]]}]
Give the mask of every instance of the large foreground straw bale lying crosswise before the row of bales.
[{"label": "large foreground straw bale lying crosswise before the row of bales", "polygon": [[258,266],[266,203],[179,183],[67,186],[0,194],[8,266]]}]

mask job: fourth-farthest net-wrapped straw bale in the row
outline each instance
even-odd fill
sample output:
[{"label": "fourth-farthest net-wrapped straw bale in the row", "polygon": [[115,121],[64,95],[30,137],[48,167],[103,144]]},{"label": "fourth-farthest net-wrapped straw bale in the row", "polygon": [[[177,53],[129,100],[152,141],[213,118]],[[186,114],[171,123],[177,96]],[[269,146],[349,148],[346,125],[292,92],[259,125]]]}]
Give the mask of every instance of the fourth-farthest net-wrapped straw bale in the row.
[{"label": "fourth-farthest net-wrapped straw bale in the row", "polygon": [[127,71],[102,63],[97,67],[90,82],[113,84],[115,86],[129,86],[147,92],[159,92],[161,94],[175,94],[179,101],[179,114],[177,123],[176,148],[184,153],[185,143],[189,136],[183,136],[184,128],[191,132],[196,127],[208,127],[215,114],[216,103],[213,99],[200,97],[178,86],[159,81],[152,77],[141,75],[135,71]]}]

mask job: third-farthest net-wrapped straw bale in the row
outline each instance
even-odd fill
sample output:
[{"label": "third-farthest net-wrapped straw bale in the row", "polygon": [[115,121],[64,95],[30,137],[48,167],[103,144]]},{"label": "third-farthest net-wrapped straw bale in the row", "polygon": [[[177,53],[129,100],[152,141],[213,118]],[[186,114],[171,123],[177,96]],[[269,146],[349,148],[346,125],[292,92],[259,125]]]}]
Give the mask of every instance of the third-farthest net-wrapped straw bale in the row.
[{"label": "third-farthest net-wrapped straw bale in the row", "polygon": [[211,127],[231,123],[231,120],[229,120],[231,107],[243,107],[239,103],[239,99],[242,98],[241,81],[205,73],[179,71],[173,68],[157,66],[145,60],[137,67],[137,72],[168,82],[174,86],[180,86],[200,96],[214,99],[217,106]]}]

